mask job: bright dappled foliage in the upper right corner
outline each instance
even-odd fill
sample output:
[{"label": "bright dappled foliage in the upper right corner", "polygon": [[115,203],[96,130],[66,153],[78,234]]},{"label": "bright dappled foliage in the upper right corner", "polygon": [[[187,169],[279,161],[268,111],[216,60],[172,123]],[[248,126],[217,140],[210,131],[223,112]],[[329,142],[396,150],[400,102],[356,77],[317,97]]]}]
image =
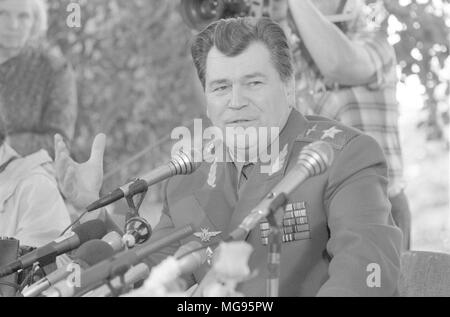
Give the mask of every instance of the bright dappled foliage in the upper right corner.
[{"label": "bright dappled foliage in the upper right corner", "polygon": [[[441,140],[449,124],[450,2],[448,0],[384,0],[391,15],[402,80],[417,75],[424,87],[424,120],[428,140]],[[446,140],[448,146],[448,139]]]}]

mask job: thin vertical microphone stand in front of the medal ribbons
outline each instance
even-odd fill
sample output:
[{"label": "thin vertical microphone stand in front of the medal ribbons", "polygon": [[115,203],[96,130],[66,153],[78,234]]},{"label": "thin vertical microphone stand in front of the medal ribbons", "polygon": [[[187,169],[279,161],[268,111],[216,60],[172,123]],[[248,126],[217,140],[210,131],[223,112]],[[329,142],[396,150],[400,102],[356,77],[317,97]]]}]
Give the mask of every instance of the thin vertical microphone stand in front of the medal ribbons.
[{"label": "thin vertical microphone stand in front of the medal ribbons", "polygon": [[[272,193],[271,195],[275,195]],[[284,193],[280,193],[273,197],[269,205],[269,214],[266,217],[270,225],[268,256],[267,256],[267,270],[269,276],[266,281],[266,291],[268,297],[279,296],[280,286],[280,259],[281,259],[281,241],[282,231],[280,225],[275,219],[277,212],[283,213],[288,199]]]}]

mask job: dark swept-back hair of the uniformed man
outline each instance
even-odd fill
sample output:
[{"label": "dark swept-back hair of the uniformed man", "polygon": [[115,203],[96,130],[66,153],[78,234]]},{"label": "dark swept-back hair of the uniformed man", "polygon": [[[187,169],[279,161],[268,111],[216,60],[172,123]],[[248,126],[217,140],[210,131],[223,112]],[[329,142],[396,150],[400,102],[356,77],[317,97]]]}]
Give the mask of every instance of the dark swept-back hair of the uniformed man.
[{"label": "dark swept-back hair of the uniformed man", "polygon": [[222,19],[207,26],[192,43],[192,58],[203,88],[206,59],[213,47],[225,56],[234,57],[255,42],[266,45],[281,80],[291,79],[294,73],[291,52],[284,31],[277,23],[268,18]]}]

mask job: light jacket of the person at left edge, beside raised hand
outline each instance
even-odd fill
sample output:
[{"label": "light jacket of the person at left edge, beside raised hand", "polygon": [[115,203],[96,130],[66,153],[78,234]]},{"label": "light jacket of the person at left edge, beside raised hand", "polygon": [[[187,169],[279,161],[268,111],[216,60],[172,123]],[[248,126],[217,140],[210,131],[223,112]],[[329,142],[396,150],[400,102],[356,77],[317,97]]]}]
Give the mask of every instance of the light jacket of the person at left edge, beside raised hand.
[{"label": "light jacket of the person at left edge, beside raised hand", "polygon": [[0,237],[40,247],[70,224],[56,179],[48,171],[52,159],[44,150],[21,157],[5,139],[0,128]]}]

